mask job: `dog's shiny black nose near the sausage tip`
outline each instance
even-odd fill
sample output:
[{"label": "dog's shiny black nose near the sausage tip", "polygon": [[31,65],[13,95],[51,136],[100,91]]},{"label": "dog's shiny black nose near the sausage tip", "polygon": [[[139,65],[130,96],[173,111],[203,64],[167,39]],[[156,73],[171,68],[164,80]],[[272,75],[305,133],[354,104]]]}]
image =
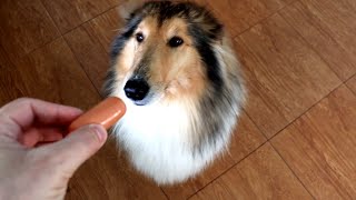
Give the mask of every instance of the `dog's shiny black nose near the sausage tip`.
[{"label": "dog's shiny black nose near the sausage tip", "polygon": [[145,99],[149,91],[149,86],[144,78],[132,78],[127,81],[123,91],[126,97],[134,101],[140,101]]}]

